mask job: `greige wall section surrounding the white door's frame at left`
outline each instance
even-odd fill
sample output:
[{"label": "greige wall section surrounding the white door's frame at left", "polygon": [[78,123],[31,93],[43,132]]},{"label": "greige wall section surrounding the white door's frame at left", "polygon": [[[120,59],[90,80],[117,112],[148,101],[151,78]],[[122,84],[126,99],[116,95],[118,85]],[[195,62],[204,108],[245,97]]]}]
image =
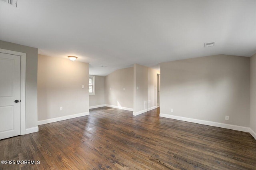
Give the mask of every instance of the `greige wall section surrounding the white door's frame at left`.
[{"label": "greige wall section surrounding the white door's frame at left", "polygon": [[0,48],[26,53],[26,128],[37,127],[38,49],[0,41]]}]

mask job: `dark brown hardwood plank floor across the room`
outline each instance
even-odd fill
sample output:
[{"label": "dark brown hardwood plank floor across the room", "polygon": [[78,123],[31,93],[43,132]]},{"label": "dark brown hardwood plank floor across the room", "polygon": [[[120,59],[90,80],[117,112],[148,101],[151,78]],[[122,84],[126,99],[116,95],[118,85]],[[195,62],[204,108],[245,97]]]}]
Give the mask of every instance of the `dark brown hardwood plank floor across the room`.
[{"label": "dark brown hardwood plank floor across the room", "polygon": [[246,132],[120,109],[39,126],[39,132],[0,140],[0,160],[40,164],[0,169],[256,170],[256,140]]}]

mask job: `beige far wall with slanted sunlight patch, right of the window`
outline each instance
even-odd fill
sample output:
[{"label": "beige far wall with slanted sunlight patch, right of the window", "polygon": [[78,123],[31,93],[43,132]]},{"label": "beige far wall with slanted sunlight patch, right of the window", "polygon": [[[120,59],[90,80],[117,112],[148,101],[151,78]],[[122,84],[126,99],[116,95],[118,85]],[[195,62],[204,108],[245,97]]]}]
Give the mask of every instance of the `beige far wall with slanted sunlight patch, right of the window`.
[{"label": "beige far wall with slanted sunlight patch, right of the window", "polygon": [[133,109],[133,67],[118,69],[105,77],[105,102]]}]

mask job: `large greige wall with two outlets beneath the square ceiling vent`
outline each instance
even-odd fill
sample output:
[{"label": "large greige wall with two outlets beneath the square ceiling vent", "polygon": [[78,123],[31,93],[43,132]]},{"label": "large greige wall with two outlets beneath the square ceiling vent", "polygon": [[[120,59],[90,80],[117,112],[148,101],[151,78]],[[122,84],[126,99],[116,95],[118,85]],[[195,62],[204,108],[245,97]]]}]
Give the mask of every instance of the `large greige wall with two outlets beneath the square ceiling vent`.
[{"label": "large greige wall with two outlets beneath the square ceiling vent", "polygon": [[249,57],[214,55],[161,63],[160,113],[249,127],[249,89]]}]

